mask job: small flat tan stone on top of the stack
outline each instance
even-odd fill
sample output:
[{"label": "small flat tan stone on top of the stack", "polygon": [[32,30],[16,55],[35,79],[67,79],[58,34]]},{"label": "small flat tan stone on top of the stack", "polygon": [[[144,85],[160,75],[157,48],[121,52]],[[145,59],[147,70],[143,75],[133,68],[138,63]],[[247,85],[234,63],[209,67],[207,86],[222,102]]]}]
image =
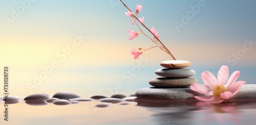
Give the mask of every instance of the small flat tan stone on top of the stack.
[{"label": "small flat tan stone on top of the stack", "polygon": [[160,63],[161,66],[166,68],[183,68],[191,65],[191,62],[185,60],[168,60]]}]

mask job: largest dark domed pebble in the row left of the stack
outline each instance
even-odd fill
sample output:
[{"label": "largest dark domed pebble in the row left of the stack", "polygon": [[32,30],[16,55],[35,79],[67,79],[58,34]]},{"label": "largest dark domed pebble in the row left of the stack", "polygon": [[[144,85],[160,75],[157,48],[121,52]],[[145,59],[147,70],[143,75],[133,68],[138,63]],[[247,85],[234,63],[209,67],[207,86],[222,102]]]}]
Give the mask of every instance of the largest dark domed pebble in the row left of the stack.
[{"label": "largest dark domed pebble in the row left of the stack", "polygon": [[72,93],[72,92],[67,92],[67,91],[59,91],[55,93],[52,97],[56,97],[59,99],[72,99],[72,98],[78,98],[80,97],[78,94]]}]

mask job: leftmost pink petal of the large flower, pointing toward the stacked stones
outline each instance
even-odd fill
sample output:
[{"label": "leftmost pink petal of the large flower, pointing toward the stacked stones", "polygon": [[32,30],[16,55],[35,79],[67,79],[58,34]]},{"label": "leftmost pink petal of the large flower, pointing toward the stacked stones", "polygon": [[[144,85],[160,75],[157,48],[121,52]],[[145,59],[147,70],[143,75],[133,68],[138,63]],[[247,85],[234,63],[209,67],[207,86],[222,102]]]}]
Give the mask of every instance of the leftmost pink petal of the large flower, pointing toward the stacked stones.
[{"label": "leftmost pink petal of the large flower, pointing toward the stacked stones", "polygon": [[193,83],[190,86],[190,89],[193,91],[196,91],[198,93],[202,93],[202,94],[210,94],[211,93],[211,88],[208,86],[204,86],[198,83]]}]

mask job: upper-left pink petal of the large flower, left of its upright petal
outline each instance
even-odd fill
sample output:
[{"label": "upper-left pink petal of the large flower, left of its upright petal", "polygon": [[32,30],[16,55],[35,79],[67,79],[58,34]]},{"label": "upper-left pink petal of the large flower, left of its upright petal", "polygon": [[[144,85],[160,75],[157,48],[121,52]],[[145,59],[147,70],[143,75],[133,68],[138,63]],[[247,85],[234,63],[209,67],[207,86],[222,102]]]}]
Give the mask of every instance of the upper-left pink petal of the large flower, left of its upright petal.
[{"label": "upper-left pink petal of the large flower, left of its upright petal", "polygon": [[216,77],[214,76],[214,74],[212,74],[209,71],[204,71],[201,74],[202,80],[204,82],[204,84],[206,84],[209,87],[214,87],[215,85],[218,85],[218,81],[216,79]]}]

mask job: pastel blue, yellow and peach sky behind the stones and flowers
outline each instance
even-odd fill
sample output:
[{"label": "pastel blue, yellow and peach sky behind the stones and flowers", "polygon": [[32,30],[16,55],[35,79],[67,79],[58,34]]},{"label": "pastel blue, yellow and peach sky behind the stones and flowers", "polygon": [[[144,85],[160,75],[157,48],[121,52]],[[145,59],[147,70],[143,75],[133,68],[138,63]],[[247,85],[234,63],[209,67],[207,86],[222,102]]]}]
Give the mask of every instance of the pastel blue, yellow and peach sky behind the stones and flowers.
[{"label": "pastel blue, yellow and peach sky behind the stones and flowers", "polygon": [[[27,8],[22,2],[29,2],[25,3]],[[179,32],[175,22],[181,23],[182,14],[187,15],[192,11],[190,6],[198,6],[199,1],[124,2],[133,11],[137,3],[143,5],[138,17],[145,16],[144,24],[155,27],[177,60],[192,63],[189,68],[196,70],[194,78],[199,83],[201,72],[208,70],[216,75],[222,65],[228,65],[230,74],[240,70],[239,80],[255,84],[255,1],[204,1],[205,6],[194,12]],[[20,12],[19,16],[7,22],[6,17],[12,18],[14,11]],[[9,91],[16,96],[39,92],[53,95],[57,91],[84,97],[131,94],[149,87],[148,81],[157,77],[154,71],[161,68],[159,63],[172,59],[159,48],[144,52],[141,56],[146,61],[133,59],[131,48],[154,44],[142,35],[128,40],[127,31],[138,29],[124,15],[126,11],[118,1],[0,1],[1,81],[8,66]],[[69,54],[63,53],[76,34],[86,39]],[[35,76],[52,61],[56,68],[35,85]]]}]

